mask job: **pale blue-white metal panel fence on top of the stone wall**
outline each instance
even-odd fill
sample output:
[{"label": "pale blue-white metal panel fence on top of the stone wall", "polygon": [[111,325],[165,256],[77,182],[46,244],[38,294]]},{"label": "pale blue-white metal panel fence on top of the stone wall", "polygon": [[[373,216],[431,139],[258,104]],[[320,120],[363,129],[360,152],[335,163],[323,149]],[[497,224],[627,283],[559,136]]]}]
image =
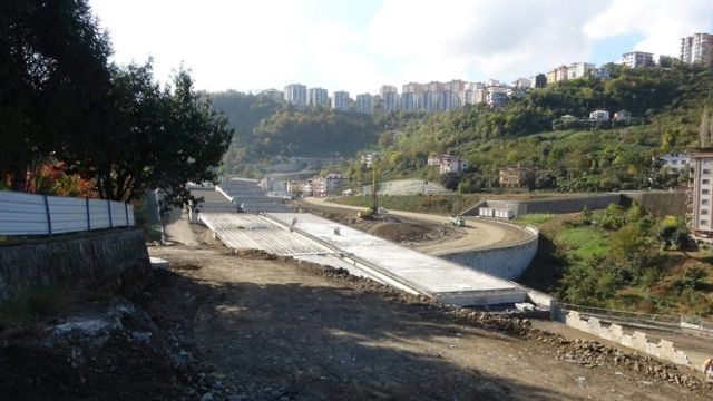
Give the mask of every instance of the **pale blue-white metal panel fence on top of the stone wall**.
[{"label": "pale blue-white metal panel fence on top of the stone wall", "polygon": [[0,192],[0,235],[52,235],[134,223],[134,206],[121,202]]}]

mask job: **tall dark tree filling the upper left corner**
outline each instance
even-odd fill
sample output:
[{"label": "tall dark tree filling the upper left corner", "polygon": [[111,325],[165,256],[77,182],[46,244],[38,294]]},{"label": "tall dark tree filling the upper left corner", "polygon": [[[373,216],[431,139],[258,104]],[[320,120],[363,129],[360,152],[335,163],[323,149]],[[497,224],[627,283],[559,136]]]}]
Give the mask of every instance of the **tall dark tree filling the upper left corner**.
[{"label": "tall dark tree filling the upper left corner", "polygon": [[14,189],[42,157],[94,134],[109,53],[86,0],[2,2],[0,175]]}]

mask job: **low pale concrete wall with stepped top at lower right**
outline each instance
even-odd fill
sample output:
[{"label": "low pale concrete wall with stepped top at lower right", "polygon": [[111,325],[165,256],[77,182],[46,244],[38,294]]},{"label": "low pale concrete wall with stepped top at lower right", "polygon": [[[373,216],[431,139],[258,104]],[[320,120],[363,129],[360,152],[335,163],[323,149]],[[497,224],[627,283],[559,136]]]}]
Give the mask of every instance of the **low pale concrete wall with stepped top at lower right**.
[{"label": "low pale concrete wall with stepped top at lower right", "polygon": [[691,364],[688,355],[677,351],[671,341],[662,339],[658,343],[653,343],[648,341],[645,333],[638,331],[635,331],[632,335],[624,334],[622,326],[618,324],[612,323],[608,326],[603,326],[597,317],[584,320],[579,316],[579,313],[575,311],[569,311],[566,314],[565,324],[600,339],[613,341],[652,356],[660,358],[664,361],[695,369],[695,366]]}]

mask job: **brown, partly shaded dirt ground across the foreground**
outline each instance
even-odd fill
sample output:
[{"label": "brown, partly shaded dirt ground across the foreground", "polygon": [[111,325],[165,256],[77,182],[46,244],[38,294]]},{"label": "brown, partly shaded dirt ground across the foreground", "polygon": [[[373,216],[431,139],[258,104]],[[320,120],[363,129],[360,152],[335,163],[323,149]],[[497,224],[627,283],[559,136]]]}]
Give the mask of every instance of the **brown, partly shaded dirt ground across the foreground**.
[{"label": "brown, partly shaded dirt ground across the foreground", "polygon": [[240,399],[709,398],[705,384],[688,390],[637,371],[638,362],[592,363],[564,353],[574,344],[554,334],[497,330],[339,272],[211,247],[150,253],[178,267],[177,293],[196,300],[186,307],[156,299],[160,313],[195,310],[186,319],[198,351]]}]

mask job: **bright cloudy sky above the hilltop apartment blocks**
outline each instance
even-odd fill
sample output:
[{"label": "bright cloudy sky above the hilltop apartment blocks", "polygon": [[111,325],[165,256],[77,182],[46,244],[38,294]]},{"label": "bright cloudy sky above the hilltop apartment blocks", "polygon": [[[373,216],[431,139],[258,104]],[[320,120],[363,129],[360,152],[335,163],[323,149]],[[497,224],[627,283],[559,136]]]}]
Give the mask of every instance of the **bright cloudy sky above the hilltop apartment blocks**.
[{"label": "bright cloudy sky above the hilltop apartment blocks", "polygon": [[89,0],[113,61],[196,88],[258,92],[289,84],[358,94],[382,85],[510,82],[563,63],[680,55],[713,33],[711,0]]}]

